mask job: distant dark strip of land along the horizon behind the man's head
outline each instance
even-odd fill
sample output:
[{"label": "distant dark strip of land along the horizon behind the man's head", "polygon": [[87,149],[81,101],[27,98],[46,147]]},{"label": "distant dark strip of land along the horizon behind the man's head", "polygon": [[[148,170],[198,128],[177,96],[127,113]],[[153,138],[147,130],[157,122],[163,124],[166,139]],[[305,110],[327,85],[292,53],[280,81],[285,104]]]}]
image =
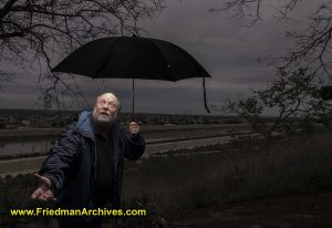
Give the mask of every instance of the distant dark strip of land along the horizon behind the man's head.
[{"label": "distant dark strip of land along the horizon behind the man's head", "polygon": [[[77,120],[79,111],[44,111],[44,110],[0,110],[0,128],[29,127],[62,127]],[[132,121],[131,113],[121,113],[120,122]],[[237,116],[221,115],[180,115],[137,113],[135,121],[145,125],[165,124],[225,124],[241,123]]]}]

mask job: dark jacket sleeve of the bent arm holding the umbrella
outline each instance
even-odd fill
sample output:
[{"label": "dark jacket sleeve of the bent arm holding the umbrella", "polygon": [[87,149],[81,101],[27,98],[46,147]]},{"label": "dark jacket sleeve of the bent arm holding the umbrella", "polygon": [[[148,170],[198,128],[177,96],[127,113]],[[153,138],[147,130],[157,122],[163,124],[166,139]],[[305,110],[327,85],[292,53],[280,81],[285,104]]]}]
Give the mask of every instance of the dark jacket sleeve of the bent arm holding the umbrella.
[{"label": "dark jacket sleeve of the bent arm holding the umbrella", "polygon": [[138,159],[145,149],[145,141],[142,135],[138,134],[135,137],[132,137],[129,131],[124,129],[124,138],[126,143],[124,157],[129,160]]}]

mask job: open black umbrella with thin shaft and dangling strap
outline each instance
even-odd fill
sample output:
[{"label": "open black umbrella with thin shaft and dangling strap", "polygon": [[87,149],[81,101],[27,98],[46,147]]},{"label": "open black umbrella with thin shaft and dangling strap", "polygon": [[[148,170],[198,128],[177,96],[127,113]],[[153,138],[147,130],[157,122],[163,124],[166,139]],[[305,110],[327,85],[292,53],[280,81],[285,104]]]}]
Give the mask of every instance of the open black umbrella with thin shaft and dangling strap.
[{"label": "open black umbrella with thin shaft and dangling strap", "polygon": [[203,77],[205,108],[205,77],[208,72],[185,50],[167,41],[112,37],[89,42],[59,63],[53,72],[74,73],[93,79],[164,80],[176,82],[189,77]]}]

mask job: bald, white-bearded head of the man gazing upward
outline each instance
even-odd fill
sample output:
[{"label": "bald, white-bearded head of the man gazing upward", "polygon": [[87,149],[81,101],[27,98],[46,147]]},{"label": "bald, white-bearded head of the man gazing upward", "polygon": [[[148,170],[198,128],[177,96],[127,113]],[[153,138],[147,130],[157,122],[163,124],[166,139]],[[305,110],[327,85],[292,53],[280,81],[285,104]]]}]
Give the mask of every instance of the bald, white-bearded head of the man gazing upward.
[{"label": "bald, white-bearded head of the man gazing upward", "polygon": [[117,117],[120,103],[112,93],[105,93],[97,97],[93,110],[93,120],[96,123],[113,123]]}]

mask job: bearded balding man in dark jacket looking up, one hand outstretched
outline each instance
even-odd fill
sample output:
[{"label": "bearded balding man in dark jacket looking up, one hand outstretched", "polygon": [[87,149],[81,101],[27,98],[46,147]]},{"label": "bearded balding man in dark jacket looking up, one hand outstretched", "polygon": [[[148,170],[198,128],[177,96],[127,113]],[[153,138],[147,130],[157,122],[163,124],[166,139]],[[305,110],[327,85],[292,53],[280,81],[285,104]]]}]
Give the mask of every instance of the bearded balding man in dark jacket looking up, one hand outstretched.
[{"label": "bearded balding man in dark jacket looking up, one hand outstretched", "polygon": [[[139,126],[128,129],[116,123],[118,99],[105,93],[94,110],[82,112],[77,123],[64,131],[35,176],[41,185],[32,199],[56,200],[65,209],[104,208],[106,201],[120,207],[124,158],[141,157],[145,142]],[[96,217],[61,217],[61,227],[101,227]]]}]

